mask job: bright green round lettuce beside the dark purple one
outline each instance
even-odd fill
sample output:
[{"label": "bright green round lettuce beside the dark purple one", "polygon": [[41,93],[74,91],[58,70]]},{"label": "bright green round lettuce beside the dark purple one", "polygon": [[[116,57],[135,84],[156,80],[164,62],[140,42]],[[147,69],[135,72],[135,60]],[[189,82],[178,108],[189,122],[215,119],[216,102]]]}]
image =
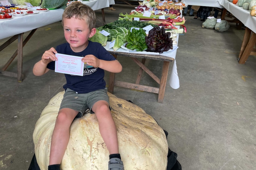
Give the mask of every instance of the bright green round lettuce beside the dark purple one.
[{"label": "bright green round lettuce beside the dark purple one", "polygon": [[136,51],[143,51],[148,49],[148,46],[145,42],[146,33],[145,31],[140,28],[132,29],[132,31],[128,32],[128,35],[126,37],[127,45],[126,48]]}]

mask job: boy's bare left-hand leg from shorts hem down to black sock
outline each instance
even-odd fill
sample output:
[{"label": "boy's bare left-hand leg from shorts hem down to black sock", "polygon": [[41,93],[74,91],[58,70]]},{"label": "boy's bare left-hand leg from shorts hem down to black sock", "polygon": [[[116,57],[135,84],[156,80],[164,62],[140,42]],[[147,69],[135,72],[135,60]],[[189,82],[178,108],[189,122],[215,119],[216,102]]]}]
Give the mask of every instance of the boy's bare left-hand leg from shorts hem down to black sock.
[{"label": "boy's bare left-hand leg from shorts hem down to black sock", "polygon": [[78,111],[64,108],[59,111],[50,148],[49,165],[60,164],[69,141],[69,128]]}]

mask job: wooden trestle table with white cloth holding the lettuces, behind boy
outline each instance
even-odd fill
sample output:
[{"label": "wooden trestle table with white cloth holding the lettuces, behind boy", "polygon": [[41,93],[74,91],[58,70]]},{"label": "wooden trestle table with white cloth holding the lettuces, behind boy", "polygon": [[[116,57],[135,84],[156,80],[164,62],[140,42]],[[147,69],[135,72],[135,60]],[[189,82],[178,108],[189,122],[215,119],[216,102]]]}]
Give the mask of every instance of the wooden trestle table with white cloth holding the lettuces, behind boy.
[{"label": "wooden trestle table with white cloth holding the lettuces, behind boy", "polygon": [[[177,27],[179,28],[180,26],[177,26]],[[179,35],[177,35],[176,37],[177,44],[173,45],[172,51],[165,52],[160,55],[159,53],[151,53],[151,52],[129,52],[123,48],[119,48],[117,51],[114,51],[113,48],[108,49],[109,42],[107,42],[107,45],[104,48],[110,54],[112,54],[115,58],[117,58],[117,56],[130,57],[140,67],[137,78],[132,83],[115,80],[115,73],[110,73],[108,91],[110,93],[113,93],[114,85],[115,85],[115,86],[124,87],[124,88],[157,93],[158,94],[157,102],[163,103],[170,62],[173,62],[173,68],[171,71],[169,84],[174,89],[179,88],[179,78],[178,78],[177,66],[176,66],[176,60],[175,60],[177,49],[178,49],[177,47],[178,38],[179,38]],[[138,60],[138,58],[142,59],[142,61]],[[154,75],[154,73],[151,72],[150,69],[144,65],[146,59],[163,61],[161,78],[158,78],[156,75]],[[159,84],[159,87],[140,85],[140,79],[142,77],[143,70]]]}]

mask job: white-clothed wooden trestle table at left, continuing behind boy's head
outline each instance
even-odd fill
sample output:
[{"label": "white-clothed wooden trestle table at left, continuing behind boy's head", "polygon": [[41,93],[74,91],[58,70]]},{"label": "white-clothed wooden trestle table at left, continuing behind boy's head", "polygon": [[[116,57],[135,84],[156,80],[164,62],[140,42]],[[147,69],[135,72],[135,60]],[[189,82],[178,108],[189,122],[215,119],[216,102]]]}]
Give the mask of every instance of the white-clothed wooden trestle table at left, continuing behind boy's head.
[{"label": "white-clothed wooden trestle table at left, continuing behind boy's head", "polygon": [[[104,8],[109,7],[110,4],[115,4],[114,0],[93,0],[93,1],[83,1],[84,4],[90,6],[93,10],[102,10],[102,20],[105,24],[105,15]],[[13,16],[10,20],[0,20],[0,39],[11,37],[4,44],[0,46],[0,51],[10,45],[13,41],[18,39],[18,48],[15,53],[11,56],[9,61],[4,65],[0,70],[0,75],[16,77],[18,82],[22,82],[23,74],[22,74],[22,60],[23,60],[23,46],[29,41],[31,36],[39,27],[43,27],[45,25],[52,24],[54,22],[58,22],[62,20],[62,14],[64,9],[55,9],[49,10],[47,12],[39,12],[37,14],[25,15],[22,17]],[[17,27],[17,25],[19,27]],[[2,31],[6,30],[6,31]],[[23,33],[31,31],[26,39],[23,41]],[[17,73],[8,72],[6,69],[18,56],[18,65],[17,65]]]}]

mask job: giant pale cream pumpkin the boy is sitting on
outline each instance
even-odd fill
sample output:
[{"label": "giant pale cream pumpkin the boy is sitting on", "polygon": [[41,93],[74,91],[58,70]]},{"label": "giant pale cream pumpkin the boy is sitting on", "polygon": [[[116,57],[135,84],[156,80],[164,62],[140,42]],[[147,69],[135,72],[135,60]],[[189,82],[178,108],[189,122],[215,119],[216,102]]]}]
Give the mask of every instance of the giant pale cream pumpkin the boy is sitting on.
[{"label": "giant pale cream pumpkin the boy is sitting on", "polygon": [[[41,170],[46,170],[49,164],[51,135],[63,94],[60,92],[49,101],[35,125],[33,140]],[[124,169],[166,170],[168,145],[163,129],[140,107],[113,94],[108,95]],[[61,169],[107,170],[108,161],[109,153],[95,114],[75,119]]]}]

